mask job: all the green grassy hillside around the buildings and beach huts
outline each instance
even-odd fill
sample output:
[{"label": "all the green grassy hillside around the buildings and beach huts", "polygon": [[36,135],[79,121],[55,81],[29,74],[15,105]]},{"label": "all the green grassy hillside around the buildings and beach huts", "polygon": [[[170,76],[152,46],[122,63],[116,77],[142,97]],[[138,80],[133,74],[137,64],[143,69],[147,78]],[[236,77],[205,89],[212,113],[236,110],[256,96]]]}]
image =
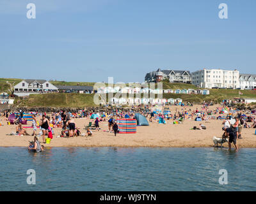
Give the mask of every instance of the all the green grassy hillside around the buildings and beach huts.
[{"label": "all the green grassy hillside around the buildings and beach huts", "polygon": [[[0,91],[8,92],[10,85],[6,82],[18,84],[21,79],[15,78],[0,78]],[[54,85],[91,85],[94,82],[60,82],[51,81]],[[106,84],[107,86],[107,84]],[[156,86],[157,88],[157,86]],[[163,89],[198,89],[192,84],[170,84],[169,82],[163,81]],[[191,95],[191,94],[163,94],[163,98],[181,98],[183,101],[200,103],[202,101],[214,101],[220,102],[223,99],[237,98],[238,93],[242,92],[243,98],[256,98],[256,91],[250,90],[232,90],[232,89],[210,89],[209,95]],[[52,107],[85,107],[95,106],[93,103],[94,94],[68,94],[68,93],[52,93],[52,94],[35,94],[30,95],[27,99],[16,99],[15,104],[19,106],[52,106]],[[114,94],[115,96],[115,94]],[[108,97],[108,96],[107,96]],[[141,98],[143,95],[141,94]],[[134,95],[135,98],[135,95]]]}]

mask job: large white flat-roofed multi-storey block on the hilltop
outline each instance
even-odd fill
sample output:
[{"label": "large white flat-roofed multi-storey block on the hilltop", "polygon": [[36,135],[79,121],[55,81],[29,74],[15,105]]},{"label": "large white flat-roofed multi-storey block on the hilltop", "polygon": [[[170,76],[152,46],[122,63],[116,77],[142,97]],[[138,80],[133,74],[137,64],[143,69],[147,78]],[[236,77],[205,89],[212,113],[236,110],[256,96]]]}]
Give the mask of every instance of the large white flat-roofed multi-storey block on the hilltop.
[{"label": "large white flat-roofed multi-storey block on the hilltop", "polygon": [[191,73],[192,84],[201,88],[225,87],[237,89],[239,84],[239,71],[223,69],[200,69]]}]

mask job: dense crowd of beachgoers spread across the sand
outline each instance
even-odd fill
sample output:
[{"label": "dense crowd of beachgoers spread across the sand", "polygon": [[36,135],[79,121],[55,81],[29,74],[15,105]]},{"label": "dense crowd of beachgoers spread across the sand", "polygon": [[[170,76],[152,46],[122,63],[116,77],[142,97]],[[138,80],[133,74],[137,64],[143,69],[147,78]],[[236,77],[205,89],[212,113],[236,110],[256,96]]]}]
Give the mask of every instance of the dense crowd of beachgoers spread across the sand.
[{"label": "dense crowd of beachgoers spread across the sand", "polygon": [[[211,108],[211,103],[203,103],[199,108],[193,108],[193,104],[187,103],[182,105],[182,108],[175,108],[175,111],[170,111],[168,107],[161,107],[161,111],[157,110],[159,107],[144,106],[140,107],[140,110],[108,110],[106,112],[90,112],[90,111],[79,111],[79,112],[67,112],[66,110],[60,112],[52,112],[50,114],[46,113],[32,113],[32,136],[35,136],[35,140],[32,143],[29,143],[30,150],[38,150],[39,143],[38,136],[42,136],[42,142],[46,143],[47,138],[52,139],[54,134],[54,128],[61,128],[61,133],[57,137],[77,137],[77,136],[93,136],[93,131],[100,131],[100,123],[108,122],[108,132],[118,134],[118,122],[117,119],[130,118],[135,119],[135,113],[140,113],[149,122],[159,122],[163,119],[164,121],[170,121],[170,124],[175,124],[174,122],[184,122],[185,120],[196,120],[200,118],[200,121],[209,121],[209,119],[216,115],[216,119],[222,119],[223,115],[225,120],[223,120],[223,136],[222,138],[229,138],[228,145],[230,147],[231,143],[234,143],[236,149],[237,143],[236,139],[242,139],[242,129],[243,128],[256,128],[256,117],[244,115],[245,112],[236,112],[235,109],[228,108],[228,112],[223,112],[224,108],[227,108],[225,105],[218,108]],[[137,107],[138,108],[138,107]],[[5,117],[8,120],[8,116],[12,114],[11,112],[3,112],[1,116]],[[28,130],[22,127],[21,121],[24,112],[20,110],[19,113],[16,113],[15,124],[16,134],[15,135],[29,135]],[[214,119],[212,117],[211,119]],[[84,125],[84,133],[81,130],[81,127],[77,127],[76,119],[87,118],[90,119],[88,126]],[[159,122],[160,123],[160,122]],[[165,124],[168,124],[165,123]],[[38,133],[38,129],[40,132]],[[194,126],[192,129],[206,129],[205,124],[200,123],[199,126]],[[36,142],[36,143],[35,143]],[[40,149],[41,145],[40,145]],[[44,148],[43,148],[44,149]]]}]

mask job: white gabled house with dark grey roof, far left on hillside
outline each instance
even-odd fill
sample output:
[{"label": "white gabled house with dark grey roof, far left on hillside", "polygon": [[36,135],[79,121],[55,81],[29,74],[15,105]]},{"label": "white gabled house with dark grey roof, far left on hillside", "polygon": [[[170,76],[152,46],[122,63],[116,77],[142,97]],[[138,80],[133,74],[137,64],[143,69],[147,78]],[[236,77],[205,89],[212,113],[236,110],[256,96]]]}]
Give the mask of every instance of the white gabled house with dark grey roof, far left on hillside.
[{"label": "white gabled house with dark grey roof, far left on hillside", "polygon": [[29,94],[41,94],[57,92],[58,88],[47,80],[26,79],[14,86],[16,96],[29,96]]}]

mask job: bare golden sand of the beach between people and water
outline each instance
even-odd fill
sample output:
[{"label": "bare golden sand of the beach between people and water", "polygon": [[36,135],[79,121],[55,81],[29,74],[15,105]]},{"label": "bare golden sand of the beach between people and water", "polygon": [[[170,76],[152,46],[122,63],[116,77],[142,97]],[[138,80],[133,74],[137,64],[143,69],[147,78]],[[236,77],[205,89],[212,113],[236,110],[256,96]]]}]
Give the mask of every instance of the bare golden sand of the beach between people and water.
[{"label": "bare golden sand of the beach between people and water", "polygon": [[[193,110],[200,106],[193,106]],[[216,106],[210,106],[211,110]],[[171,111],[181,110],[184,107],[172,106]],[[190,107],[187,108],[187,110]],[[217,115],[216,115],[217,116]],[[4,118],[1,118],[4,121]],[[38,117],[37,119],[40,119]],[[76,125],[80,128],[81,133],[85,133],[84,126],[92,120],[75,119]],[[93,136],[78,136],[75,138],[57,138],[61,133],[61,128],[54,128],[54,138],[50,144],[44,144],[45,147],[213,147],[212,137],[221,137],[223,120],[195,121],[185,120],[182,124],[171,124],[173,120],[166,120],[166,124],[150,122],[150,126],[137,126],[136,134],[117,134],[109,133],[108,122],[100,122],[100,131],[92,129]],[[193,126],[204,124],[207,129],[194,130]],[[28,122],[28,126],[31,122]],[[14,125],[0,126],[0,146],[1,147],[27,147],[28,142],[33,140],[33,136],[15,136],[8,135],[15,132]],[[26,128],[29,135],[32,134],[32,128]],[[38,128],[37,133],[40,129]],[[240,147],[256,147],[255,129],[243,128],[243,139],[237,140]],[[39,141],[42,142],[42,136]],[[228,147],[228,143],[224,143]]]}]

